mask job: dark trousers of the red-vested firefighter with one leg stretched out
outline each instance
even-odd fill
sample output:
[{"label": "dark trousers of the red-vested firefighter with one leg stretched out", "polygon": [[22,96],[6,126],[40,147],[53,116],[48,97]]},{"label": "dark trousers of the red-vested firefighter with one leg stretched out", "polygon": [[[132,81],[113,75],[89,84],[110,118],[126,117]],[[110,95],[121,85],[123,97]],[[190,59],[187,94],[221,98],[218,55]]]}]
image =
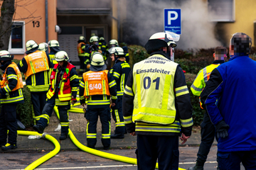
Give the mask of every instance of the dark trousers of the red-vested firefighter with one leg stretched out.
[{"label": "dark trousers of the red-vested firefighter with one leg stretched out", "polygon": [[[56,95],[55,95],[56,96]],[[53,108],[55,106],[55,96],[48,99],[46,101],[46,106],[43,108],[42,115],[48,115],[50,116],[53,113]],[[70,110],[70,102],[64,102],[68,103],[66,105],[58,105],[58,111],[60,115],[60,125],[61,125],[61,134],[68,134],[68,128],[69,128],[69,120],[68,120],[68,110]],[[57,105],[56,105],[57,106]],[[43,128],[46,128],[48,125],[48,119],[47,118],[40,118],[38,121],[38,125],[43,126]]]}]

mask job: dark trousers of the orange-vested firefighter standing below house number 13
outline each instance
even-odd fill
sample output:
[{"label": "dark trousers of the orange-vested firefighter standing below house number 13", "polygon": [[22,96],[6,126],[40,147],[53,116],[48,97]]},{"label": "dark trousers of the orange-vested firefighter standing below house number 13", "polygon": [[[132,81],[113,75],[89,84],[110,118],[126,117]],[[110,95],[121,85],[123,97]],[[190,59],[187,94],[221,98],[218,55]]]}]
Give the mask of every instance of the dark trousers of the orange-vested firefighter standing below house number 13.
[{"label": "dark trousers of the orange-vested firefighter standing below house number 13", "polygon": [[31,92],[31,102],[33,106],[33,124],[36,125],[40,118],[37,116],[42,114],[43,107],[46,105],[46,92]]}]

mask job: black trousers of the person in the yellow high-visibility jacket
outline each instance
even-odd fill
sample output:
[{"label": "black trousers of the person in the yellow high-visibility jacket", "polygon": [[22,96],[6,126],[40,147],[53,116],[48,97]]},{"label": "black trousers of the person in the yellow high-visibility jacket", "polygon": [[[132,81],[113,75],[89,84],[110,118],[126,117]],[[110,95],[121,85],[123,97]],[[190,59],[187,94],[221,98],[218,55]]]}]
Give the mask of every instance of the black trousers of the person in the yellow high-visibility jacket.
[{"label": "black trousers of the person in the yellow high-visibility jacket", "polygon": [[207,156],[210,152],[210,147],[213,145],[215,137],[215,126],[210,122],[208,113],[203,116],[203,122],[201,123],[201,144],[198,149],[198,159],[201,162],[206,162]]}]

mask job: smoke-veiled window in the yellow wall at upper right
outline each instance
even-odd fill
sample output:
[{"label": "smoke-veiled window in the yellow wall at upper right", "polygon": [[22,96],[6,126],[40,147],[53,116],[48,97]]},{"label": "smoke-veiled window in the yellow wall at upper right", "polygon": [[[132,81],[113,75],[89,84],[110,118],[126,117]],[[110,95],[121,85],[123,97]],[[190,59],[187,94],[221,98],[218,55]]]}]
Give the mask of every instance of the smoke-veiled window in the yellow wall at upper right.
[{"label": "smoke-veiled window in the yellow wall at upper right", "polygon": [[234,0],[208,0],[208,12],[210,21],[234,22]]}]

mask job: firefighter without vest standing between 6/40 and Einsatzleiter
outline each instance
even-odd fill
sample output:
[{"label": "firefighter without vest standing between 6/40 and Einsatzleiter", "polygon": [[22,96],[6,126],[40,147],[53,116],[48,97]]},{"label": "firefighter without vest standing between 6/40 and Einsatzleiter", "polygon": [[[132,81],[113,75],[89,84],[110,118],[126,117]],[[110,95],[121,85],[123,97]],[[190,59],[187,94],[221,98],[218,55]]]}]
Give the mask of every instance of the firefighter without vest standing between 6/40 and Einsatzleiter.
[{"label": "firefighter without vest standing between 6/40 and Einsatzleiter", "polygon": [[125,61],[124,50],[122,47],[112,47],[109,50],[114,66],[110,69],[110,73],[113,75],[114,80],[117,82],[117,106],[112,107],[112,117],[114,119],[116,128],[114,135],[111,138],[122,139],[124,138],[125,125],[124,117],[122,114],[122,96],[124,94],[125,84],[131,68]]}]

